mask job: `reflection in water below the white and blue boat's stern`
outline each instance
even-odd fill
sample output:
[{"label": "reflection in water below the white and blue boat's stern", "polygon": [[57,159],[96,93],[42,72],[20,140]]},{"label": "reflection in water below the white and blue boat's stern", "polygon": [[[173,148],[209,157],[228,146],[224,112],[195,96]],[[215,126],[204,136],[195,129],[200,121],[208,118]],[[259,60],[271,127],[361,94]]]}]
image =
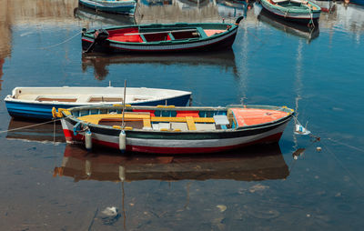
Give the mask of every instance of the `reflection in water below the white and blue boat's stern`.
[{"label": "reflection in water below the white and blue boat's stern", "polygon": [[[56,130],[55,130],[56,128]],[[6,139],[35,141],[41,143],[56,142],[66,143],[60,123],[43,123],[37,121],[25,121],[12,118],[7,128]]]}]

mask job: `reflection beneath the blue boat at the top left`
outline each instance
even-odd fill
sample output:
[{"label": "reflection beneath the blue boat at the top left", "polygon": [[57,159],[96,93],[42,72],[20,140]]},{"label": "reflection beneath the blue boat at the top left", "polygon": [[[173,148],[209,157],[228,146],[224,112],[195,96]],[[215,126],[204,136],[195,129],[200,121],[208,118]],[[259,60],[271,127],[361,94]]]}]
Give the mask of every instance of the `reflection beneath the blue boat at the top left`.
[{"label": "reflection beneath the blue boat at the top left", "polygon": [[106,12],[96,12],[93,9],[87,8],[83,5],[78,5],[74,10],[76,18],[90,23],[103,23],[108,25],[135,25],[136,20],[131,15],[116,15]]}]

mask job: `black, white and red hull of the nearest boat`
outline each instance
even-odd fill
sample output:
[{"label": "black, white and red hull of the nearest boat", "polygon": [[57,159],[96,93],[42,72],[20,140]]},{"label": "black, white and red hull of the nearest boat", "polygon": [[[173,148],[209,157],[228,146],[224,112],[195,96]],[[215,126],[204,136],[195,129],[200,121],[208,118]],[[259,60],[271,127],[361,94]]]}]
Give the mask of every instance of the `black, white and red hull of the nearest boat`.
[{"label": "black, white and red hull of the nearest boat", "polygon": [[[214,153],[250,146],[278,142],[290,116],[274,124],[250,127],[247,129],[221,130],[211,132],[150,132],[126,130],[126,151],[157,154]],[[62,119],[62,127],[67,143],[85,143],[85,133],[74,134],[76,120]],[[88,125],[92,133],[92,143],[98,146],[119,148],[120,130],[106,126]]]}]

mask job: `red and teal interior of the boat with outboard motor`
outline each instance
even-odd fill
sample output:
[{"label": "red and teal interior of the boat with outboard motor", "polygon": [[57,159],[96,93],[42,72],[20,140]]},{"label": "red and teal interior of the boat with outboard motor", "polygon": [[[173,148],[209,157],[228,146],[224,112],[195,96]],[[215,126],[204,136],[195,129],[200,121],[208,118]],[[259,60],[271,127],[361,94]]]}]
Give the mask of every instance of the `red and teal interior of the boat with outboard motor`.
[{"label": "red and teal interior of the boat with outboard motor", "polygon": [[140,28],[128,27],[107,30],[108,39],[116,42],[147,43],[186,39],[207,38],[227,31],[225,29],[206,29],[202,27]]}]

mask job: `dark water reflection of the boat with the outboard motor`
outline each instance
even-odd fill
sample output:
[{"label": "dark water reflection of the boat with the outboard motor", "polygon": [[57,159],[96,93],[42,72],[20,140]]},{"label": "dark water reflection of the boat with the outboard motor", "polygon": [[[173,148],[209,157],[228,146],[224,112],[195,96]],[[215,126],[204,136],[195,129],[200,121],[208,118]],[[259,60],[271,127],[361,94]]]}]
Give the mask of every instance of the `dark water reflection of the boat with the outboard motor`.
[{"label": "dark water reflection of the boat with the outboard motor", "polygon": [[157,54],[157,55],[82,55],[82,70],[94,68],[96,79],[103,80],[108,75],[108,65],[154,64],[154,65],[215,65],[222,70],[231,69],[238,75],[235,55],[232,49],[219,52]]}]

